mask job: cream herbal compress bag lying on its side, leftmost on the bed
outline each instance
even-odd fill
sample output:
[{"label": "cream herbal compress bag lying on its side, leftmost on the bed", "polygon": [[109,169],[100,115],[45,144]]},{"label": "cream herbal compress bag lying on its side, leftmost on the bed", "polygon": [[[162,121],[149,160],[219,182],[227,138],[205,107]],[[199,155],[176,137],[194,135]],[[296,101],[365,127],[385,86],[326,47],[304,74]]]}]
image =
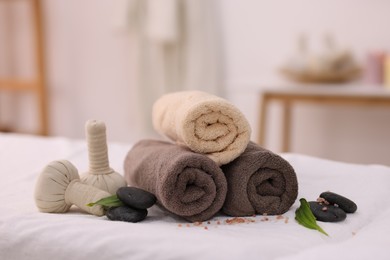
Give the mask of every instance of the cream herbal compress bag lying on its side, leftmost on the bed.
[{"label": "cream herbal compress bag lying on its side, leftmost on the bed", "polygon": [[39,175],[35,185],[35,204],[39,211],[65,213],[74,204],[82,210],[96,215],[104,215],[104,209],[95,205],[88,207],[111,194],[80,182],[77,169],[69,161],[53,161]]}]

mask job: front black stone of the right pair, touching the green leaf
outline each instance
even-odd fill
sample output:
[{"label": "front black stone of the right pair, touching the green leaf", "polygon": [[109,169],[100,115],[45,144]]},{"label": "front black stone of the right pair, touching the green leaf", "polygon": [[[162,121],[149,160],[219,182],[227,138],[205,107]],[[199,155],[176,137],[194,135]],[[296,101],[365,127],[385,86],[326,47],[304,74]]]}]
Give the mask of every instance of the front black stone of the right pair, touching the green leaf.
[{"label": "front black stone of the right pair, touching the green leaf", "polygon": [[310,201],[310,210],[318,221],[322,222],[339,222],[343,221],[347,214],[341,208],[333,205],[324,205],[317,201]]}]

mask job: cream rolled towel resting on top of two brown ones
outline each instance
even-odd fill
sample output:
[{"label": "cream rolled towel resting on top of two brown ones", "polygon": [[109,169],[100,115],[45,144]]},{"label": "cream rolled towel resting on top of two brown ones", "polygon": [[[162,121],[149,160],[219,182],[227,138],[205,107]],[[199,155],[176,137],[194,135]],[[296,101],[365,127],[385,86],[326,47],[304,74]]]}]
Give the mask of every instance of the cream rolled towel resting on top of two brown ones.
[{"label": "cream rolled towel resting on top of two brown ones", "polygon": [[251,128],[228,101],[201,91],[174,92],[153,105],[153,126],[218,165],[238,157],[248,145]]}]

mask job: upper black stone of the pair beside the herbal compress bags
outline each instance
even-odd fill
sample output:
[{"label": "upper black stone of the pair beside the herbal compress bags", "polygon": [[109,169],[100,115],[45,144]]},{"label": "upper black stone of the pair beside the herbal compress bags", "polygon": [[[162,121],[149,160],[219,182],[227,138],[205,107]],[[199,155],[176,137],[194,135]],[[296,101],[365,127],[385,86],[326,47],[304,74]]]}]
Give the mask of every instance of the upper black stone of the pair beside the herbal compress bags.
[{"label": "upper black stone of the pair beside the herbal compress bags", "polygon": [[147,209],[156,203],[154,194],[136,187],[121,187],[116,191],[118,199],[136,209]]}]

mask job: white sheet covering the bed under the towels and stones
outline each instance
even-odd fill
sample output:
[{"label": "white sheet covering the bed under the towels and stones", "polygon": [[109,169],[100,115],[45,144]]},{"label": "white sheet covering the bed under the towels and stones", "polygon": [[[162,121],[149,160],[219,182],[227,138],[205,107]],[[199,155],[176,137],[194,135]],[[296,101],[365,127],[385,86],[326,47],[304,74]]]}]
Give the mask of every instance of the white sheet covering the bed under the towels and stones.
[{"label": "white sheet covering the bed under the towels and stones", "polygon": [[[109,144],[111,167],[123,173],[130,144]],[[283,215],[231,217],[187,223],[153,206],[140,223],[114,222],[72,208],[40,213],[33,192],[50,161],[70,160],[87,170],[84,141],[0,134],[0,259],[389,259],[390,168],[283,154],[295,168],[298,198],[323,191],[353,199],[358,211],[340,223],[319,222],[329,237]]]}]

